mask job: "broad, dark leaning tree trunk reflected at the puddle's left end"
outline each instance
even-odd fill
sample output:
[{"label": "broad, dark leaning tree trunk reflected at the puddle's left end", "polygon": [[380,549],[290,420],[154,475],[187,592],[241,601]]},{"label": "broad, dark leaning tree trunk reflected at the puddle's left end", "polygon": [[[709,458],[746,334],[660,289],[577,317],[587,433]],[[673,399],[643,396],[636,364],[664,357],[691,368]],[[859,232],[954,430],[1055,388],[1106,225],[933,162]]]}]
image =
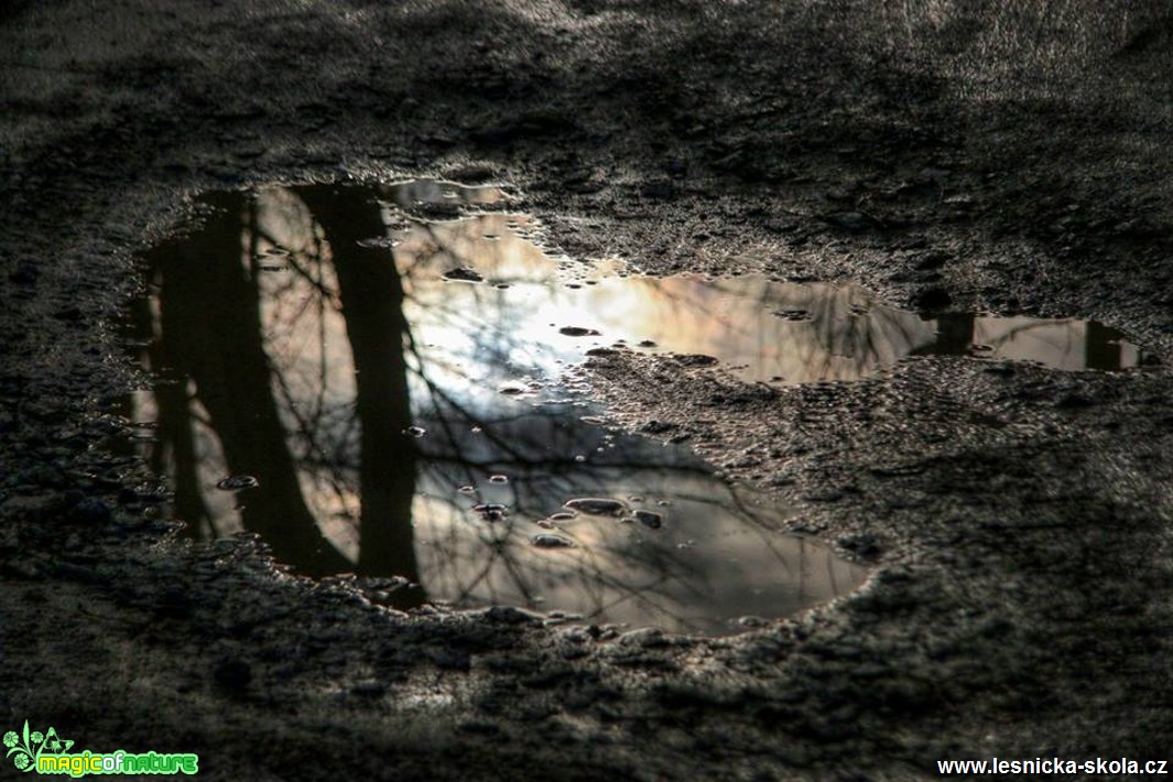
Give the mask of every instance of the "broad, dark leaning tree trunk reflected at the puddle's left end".
[{"label": "broad, dark leaning tree trunk reflected at the puddle's left end", "polygon": [[[197,237],[164,245],[151,253],[161,279],[158,293],[160,365],[190,378],[208,412],[229,471],[257,477],[259,485],[242,494],[248,529],[259,532],[273,552],[312,572],[332,572],[345,560],[325,543],[301,498],[297,471],[285,446],[285,427],[270,392],[269,361],[262,344],[256,278],[240,264],[244,197],[221,196],[218,211]],[[215,307],[213,310],[211,310]],[[211,310],[211,311],[210,311]],[[188,512],[201,512],[192,498],[195,465],[183,385],[156,394],[161,434],[172,444],[177,499]],[[312,563],[312,565],[311,565]]]}]

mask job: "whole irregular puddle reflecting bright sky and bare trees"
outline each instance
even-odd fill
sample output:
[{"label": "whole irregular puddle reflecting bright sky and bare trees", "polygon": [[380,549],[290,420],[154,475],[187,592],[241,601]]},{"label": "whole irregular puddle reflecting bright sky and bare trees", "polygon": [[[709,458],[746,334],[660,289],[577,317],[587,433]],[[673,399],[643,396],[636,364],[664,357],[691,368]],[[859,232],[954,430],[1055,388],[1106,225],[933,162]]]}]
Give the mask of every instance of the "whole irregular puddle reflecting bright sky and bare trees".
[{"label": "whole irregular puddle reflecting bright sky and bare trees", "polygon": [[[547,256],[494,188],[219,193],[148,257],[151,389],[128,419],[197,537],[259,533],[389,599],[738,632],[866,576],[682,446],[616,434],[564,370],[616,345],[747,380],[850,380],[913,353],[1141,361],[1083,321],[925,320],[853,286],[628,276]],[[469,213],[468,210],[476,210]],[[704,363],[704,360],[696,360]]]}]

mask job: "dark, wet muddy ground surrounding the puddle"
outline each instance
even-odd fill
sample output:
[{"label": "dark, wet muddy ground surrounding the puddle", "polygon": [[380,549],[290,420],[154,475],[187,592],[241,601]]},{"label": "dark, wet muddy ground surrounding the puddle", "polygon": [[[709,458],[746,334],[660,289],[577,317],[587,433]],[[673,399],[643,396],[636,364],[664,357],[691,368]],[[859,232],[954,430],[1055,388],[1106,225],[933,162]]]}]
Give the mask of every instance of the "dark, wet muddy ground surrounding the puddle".
[{"label": "dark, wet muddy ground surrounding the puddle", "polygon": [[[1167,759],[1165,4],[148,0],[0,7],[0,728],[209,778],[918,778]],[[908,360],[768,390],[583,369],[874,564],[723,640],[404,616],[192,546],[103,413],[136,253],[192,195],[439,175],[574,258],[1097,318],[1161,363]],[[4,774],[14,769],[5,761]]]}]

